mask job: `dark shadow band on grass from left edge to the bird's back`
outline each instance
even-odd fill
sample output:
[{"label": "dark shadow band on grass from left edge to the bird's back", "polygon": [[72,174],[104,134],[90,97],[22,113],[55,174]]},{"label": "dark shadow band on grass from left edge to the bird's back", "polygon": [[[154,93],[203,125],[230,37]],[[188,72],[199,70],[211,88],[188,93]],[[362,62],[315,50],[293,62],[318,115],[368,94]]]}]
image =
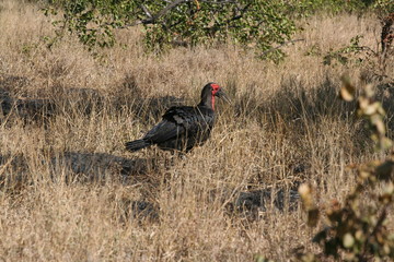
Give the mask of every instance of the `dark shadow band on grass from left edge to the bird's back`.
[{"label": "dark shadow band on grass from left edge to the bird's back", "polygon": [[26,92],[30,81],[18,75],[0,75],[0,109],[2,119],[22,119],[24,123],[45,123],[50,117],[80,118],[92,114],[131,112],[142,122],[160,119],[171,106],[184,104],[174,96],[143,97],[132,76],[109,91],[70,87],[55,84],[48,90]]}]

